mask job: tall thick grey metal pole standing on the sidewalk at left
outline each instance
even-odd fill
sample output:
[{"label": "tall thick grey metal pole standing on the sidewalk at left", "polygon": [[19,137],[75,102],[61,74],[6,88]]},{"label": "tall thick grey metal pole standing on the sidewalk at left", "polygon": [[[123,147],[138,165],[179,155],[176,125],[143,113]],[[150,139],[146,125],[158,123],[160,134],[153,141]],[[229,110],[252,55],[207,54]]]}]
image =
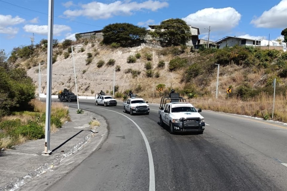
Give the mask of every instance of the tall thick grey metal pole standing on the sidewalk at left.
[{"label": "tall thick grey metal pole standing on the sidewalk at left", "polygon": [[44,156],[51,155],[51,151],[50,151],[50,122],[51,122],[51,97],[52,97],[53,22],[54,22],[54,0],[49,0],[45,150],[42,152],[42,155],[44,155]]}]

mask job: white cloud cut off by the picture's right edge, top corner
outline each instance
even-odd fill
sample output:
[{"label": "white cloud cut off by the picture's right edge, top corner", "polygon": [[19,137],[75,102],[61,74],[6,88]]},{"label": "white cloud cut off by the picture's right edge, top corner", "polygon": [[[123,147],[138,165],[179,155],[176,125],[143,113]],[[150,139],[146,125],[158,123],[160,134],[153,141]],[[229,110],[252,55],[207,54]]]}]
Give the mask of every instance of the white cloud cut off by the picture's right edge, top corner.
[{"label": "white cloud cut off by the picture's right edge, top corner", "polygon": [[287,27],[287,0],[280,1],[268,11],[264,11],[259,18],[250,23],[261,28],[286,28]]}]

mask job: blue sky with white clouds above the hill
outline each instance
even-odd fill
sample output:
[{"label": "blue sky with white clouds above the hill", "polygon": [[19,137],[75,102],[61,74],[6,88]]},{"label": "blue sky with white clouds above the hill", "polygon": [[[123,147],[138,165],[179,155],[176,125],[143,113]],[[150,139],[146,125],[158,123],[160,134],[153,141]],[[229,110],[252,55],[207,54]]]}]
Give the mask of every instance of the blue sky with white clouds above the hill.
[{"label": "blue sky with white clouds above the hill", "polygon": [[[54,38],[128,22],[141,27],[180,18],[206,39],[243,36],[274,40],[287,28],[287,0],[54,0]],[[39,43],[48,34],[48,0],[0,0],[0,49]]]}]

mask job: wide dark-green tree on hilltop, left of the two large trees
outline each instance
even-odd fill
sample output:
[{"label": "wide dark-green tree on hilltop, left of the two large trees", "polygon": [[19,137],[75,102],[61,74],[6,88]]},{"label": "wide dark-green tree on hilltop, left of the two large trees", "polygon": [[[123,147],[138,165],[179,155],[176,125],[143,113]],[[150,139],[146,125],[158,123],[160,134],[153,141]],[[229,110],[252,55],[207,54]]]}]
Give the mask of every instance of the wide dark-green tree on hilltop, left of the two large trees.
[{"label": "wide dark-green tree on hilltop, left of the two large trees", "polygon": [[136,46],[144,40],[146,29],[129,23],[115,23],[105,26],[103,32],[103,43],[118,43],[121,47]]}]

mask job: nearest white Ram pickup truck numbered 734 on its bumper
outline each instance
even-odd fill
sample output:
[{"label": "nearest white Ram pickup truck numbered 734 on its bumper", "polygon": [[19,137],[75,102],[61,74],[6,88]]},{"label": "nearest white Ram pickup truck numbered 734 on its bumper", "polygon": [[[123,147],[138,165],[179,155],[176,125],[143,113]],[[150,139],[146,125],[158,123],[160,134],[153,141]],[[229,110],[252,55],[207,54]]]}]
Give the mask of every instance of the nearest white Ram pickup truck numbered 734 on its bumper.
[{"label": "nearest white Ram pickup truck numbered 734 on its bumper", "polygon": [[[176,97],[176,96],[175,96]],[[174,132],[198,132],[202,134],[205,129],[204,117],[200,115],[201,109],[186,102],[183,98],[163,97],[159,107],[160,125],[168,125],[171,134]]]}]

